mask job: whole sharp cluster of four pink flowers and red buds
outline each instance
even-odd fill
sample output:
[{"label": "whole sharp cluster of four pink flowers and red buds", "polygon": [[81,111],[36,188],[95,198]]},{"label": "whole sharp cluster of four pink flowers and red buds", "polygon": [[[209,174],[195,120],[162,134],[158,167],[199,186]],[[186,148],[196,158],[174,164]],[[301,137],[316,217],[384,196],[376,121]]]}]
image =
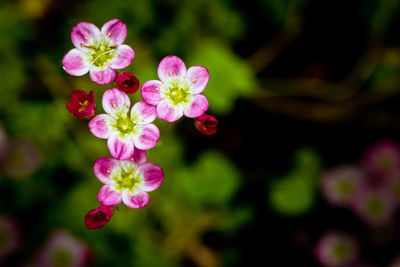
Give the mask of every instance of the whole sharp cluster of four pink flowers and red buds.
[{"label": "whole sharp cluster of four pink flowers and red buds", "polygon": [[[106,22],[101,29],[88,22],[72,28],[71,40],[75,48],[63,58],[64,70],[81,76],[90,72],[97,84],[115,81],[115,87],[102,96],[105,111],[97,114],[93,91],[72,93],[67,109],[78,118],[90,119],[90,132],[107,139],[112,157],[95,161],[93,170],[103,183],[98,193],[101,205],[89,211],[85,224],[89,229],[103,227],[113,216],[113,207],[123,202],[132,209],[149,203],[149,194],[164,180],[160,166],[147,162],[146,150],[157,145],[160,131],[153,123],[157,118],[175,122],[182,116],[194,119],[198,131],[212,135],[217,131],[218,120],[205,114],[209,103],[201,93],[207,87],[210,74],[204,66],[186,68],[177,56],[167,56],[158,65],[160,80],[142,84],[132,73],[116,70],[128,67],[135,57],[134,50],[124,44],[127,26],[119,19]],[[128,94],[140,88],[143,101],[132,103]]]}]

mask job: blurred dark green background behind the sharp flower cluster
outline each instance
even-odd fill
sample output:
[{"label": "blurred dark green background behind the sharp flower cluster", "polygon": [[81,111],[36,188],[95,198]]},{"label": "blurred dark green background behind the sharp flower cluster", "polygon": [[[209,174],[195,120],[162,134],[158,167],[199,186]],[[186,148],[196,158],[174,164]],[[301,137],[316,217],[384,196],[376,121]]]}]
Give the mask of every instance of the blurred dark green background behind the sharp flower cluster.
[{"label": "blurred dark green background behind the sharp flower cluster", "polygon": [[[157,120],[162,186],[88,230],[109,152],[65,105],[93,90],[102,113],[110,85],[61,60],[112,18],[141,83],[166,55],[206,66],[220,125]],[[398,0],[2,0],[0,265],[400,266],[399,29]]]}]

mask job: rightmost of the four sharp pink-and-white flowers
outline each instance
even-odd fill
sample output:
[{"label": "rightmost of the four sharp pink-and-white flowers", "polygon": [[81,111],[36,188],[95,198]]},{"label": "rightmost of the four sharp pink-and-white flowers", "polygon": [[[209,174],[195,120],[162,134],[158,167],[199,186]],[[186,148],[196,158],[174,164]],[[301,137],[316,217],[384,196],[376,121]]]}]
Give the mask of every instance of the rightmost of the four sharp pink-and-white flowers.
[{"label": "rightmost of the four sharp pink-and-white flowers", "polygon": [[150,80],[142,85],[143,100],[157,107],[157,117],[174,122],[183,115],[197,118],[208,109],[207,98],[200,94],[206,88],[210,74],[203,66],[186,70],[185,63],[176,56],[167,56],[158,65],[161,81]]}]

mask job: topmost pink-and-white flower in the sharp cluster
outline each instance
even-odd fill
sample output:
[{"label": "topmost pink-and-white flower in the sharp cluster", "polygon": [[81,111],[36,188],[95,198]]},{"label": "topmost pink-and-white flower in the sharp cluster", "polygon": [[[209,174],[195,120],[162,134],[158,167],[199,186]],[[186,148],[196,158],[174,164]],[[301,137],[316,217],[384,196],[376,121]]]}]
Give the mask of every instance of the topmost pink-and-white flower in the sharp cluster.
[{"label": "topmost pink-and-white flower in the sharp cluster", "polygon": [[135,57],[133,49],[123,44],[127,32],[119,19],[107,21],[101,30],[89,22],[76,24],[71,31],[75,48],[64,56],[64,70],[74,76],[90,72],[90,78],[98,84],[114,81],[115,70],[128,67]]}]

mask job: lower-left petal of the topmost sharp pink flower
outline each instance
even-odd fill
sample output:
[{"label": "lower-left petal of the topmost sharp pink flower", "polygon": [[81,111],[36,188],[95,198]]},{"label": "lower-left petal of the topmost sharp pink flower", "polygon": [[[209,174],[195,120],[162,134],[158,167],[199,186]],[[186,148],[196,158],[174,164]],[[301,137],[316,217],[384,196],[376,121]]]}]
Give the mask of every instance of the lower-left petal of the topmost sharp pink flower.
[{"label": "lower-left petal of the topmost sharp pink flower", "polygon": [[74,76],[82,76],[89,71],[90,65],[83,60],[84,52],[74,48],[65,54],[62,65],[64,70]]}]

